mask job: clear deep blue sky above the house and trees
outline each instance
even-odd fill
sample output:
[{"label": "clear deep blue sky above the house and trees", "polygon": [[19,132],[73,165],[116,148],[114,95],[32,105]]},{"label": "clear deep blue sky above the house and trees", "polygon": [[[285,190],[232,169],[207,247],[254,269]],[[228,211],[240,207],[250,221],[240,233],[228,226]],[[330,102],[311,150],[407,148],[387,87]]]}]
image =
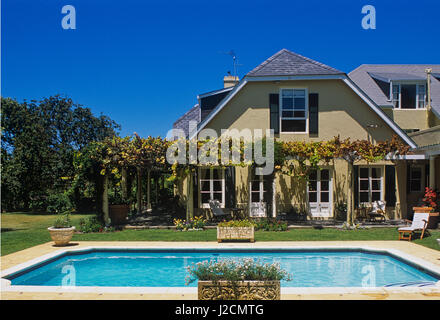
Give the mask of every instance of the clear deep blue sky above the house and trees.
[{"label": "clear deep blue sky above the house and trees", "polygon": [[[361,27],[364,5],[376,30]],[[54,94],[104,113],[121,135],[161,135],[232,71],[282,48],[350,72],[362,63],[440,63],[437,0],[4,0],[2,96]],[[64,5],[76,30],[61,27]]]}]

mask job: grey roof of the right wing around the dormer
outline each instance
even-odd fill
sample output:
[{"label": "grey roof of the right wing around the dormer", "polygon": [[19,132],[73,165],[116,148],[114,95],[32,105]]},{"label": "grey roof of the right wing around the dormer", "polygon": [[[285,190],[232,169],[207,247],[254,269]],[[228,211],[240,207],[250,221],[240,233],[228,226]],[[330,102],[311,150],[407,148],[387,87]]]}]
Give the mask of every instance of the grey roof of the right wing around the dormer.
[{"label": "grey roof of the right wing around the dormer", "polygon": [[[432,68],[432,73],[440,73],[440,65],[387,65],[387,64],[363,64],[350,72],[348,76],[358,85],[376,104],[379,106],[392,106],[383,91],[374,81],[372,75],[381,74],[397,79],[398,74],[401,78],[412,77],[414,80],[426,79],[426,68]],[[408,79],[409,80],[409,79]],[[431,105],[438,115],[440,115],[440,81],[431,76]]]}]

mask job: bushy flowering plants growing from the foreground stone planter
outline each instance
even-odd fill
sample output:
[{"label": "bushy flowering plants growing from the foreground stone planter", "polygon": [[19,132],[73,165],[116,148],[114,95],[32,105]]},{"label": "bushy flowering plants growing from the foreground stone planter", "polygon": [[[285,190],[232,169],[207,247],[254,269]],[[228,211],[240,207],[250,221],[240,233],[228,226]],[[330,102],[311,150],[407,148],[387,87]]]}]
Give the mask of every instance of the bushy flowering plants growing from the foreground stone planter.
[{"label": "bushy flowering plants growing from the foreground stone planter", "polygon": [[193,263],[187,267],[189,275],[186,277],[186,284],[194,281],[291,281],[292,276],[281,269],[279,263],[265,263],[252,258],[239,260],[205,260]]}]

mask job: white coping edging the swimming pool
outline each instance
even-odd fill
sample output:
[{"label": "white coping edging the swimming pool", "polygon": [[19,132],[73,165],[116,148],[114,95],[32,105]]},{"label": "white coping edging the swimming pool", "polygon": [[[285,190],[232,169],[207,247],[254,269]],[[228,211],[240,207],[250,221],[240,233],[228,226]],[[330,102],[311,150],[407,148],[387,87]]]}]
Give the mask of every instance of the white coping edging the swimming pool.
[{"label": "white coping edging the swimming pool", "polygon": [[[435,265],[429,261],[416,257],[412,254],[408,254],[398,249],[394,248],[377,248],[373,246],[365,245],[350,245],[343,244],[339,242],[337,245],[325,244],[325,245],[315,245],[315,244],[296,244],[289,245],[289,243],[283,243],[282,246],[279,244],[273,245],[272,243],[265,244],[238,244],[238,243],[228,243],[219,246],[216,243],[191,243],[190,246],[185,246],[182,244],[169,244],[164,246],[155,245],[154,243],[146,244],[136,244],[136,245],[89,245],[80,248],[70,248],[64,247],[59,250],[41,255],[37,258],[31,259],[29,261],[17,264],[13,267],[1,271],[1,290],[2,293],[72,293],[77,294],[78,299],[81,299],[81,294],[147,294],[147,295],[161,295],[162,297],[173,297],[178,295],[184,296],[185,294],[190,296],[197,295],[197,288],[194,287],[93,287],[93,286],[81,286],[81,287],[63,287],[63,286],[21,286],[21,285],[11,285],[11,282],[4,279],[6,276],[10,276],[14,273],[23,271],[35,267],[38,264],[44,263],[50,259],[56,259],[60,255],[65,255],[69,253],[81,253],[90,250],[356,250],[356,251],[366,251],[379,254],[387,254],[393,258],[398,258],[399,260],[413,266],[416,268],[424,269],[438,277],[440,277],[440,266]],[[437,282],[436,286],[430,287],[284,287],[281,288],[281,295],[287,296],[301,296],[301,295],[343,295],[343,294],[363,294],[363,295],[384,295],[389,294],[422,294],[431,295],[434,297],[439,297],[440,299],[440,281]]]}]

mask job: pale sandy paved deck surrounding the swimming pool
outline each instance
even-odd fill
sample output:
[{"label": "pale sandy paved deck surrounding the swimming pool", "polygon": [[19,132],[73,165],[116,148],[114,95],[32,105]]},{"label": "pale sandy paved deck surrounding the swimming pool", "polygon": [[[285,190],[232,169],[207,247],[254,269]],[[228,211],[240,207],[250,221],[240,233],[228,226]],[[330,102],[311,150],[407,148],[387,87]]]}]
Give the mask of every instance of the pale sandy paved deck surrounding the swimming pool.
[{"label": "pale sandy paved deck surrounding the swimming pool", "polygon": [[[398,252],[411,261],[422,262],[431,269],[440,270],[440,251],[429,249],[406,241],[283,241],[256,243],[216,243],[216,242],[153,242],[153,241],[81,241],[67,247],[55,247],[52,242],[18,251],[1,257],[1,270],[11,270],[18,265],[28,263],[45,255],[52,255],[64,250],[78,250],[89,247],[117,248],[371,248]],[[422,264],[421,263],[421,264]],[[176,292],[174,288],[61,288],[8,286],[2,281],[2,300],[196,300],[196,288],[184,288]],[[283,300],[382,300],[382,299],[422,299],[440,300],[440,285],[423,288],[282,288]]]}]

